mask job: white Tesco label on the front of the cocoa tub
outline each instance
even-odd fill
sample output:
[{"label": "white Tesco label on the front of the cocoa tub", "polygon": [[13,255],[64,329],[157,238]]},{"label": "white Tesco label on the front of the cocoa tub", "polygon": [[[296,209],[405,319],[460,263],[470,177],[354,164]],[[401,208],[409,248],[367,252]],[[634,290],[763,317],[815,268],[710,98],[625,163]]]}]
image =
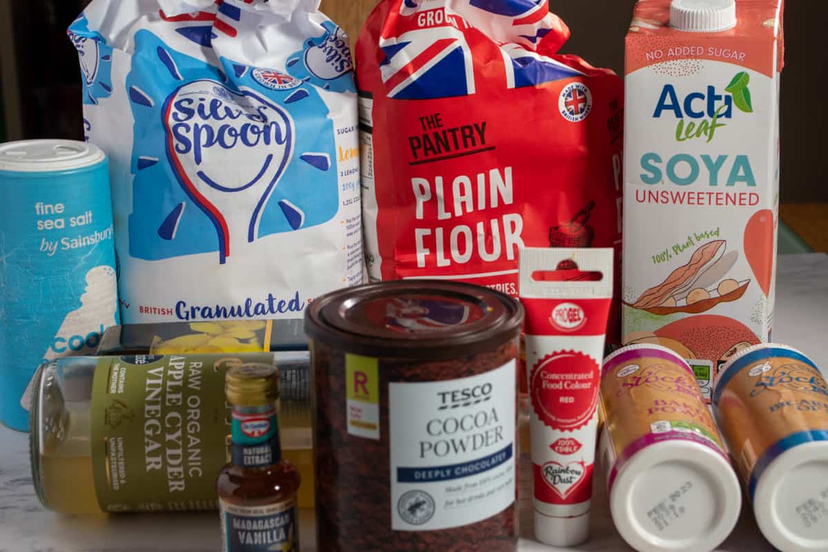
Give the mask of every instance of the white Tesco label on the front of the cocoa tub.
[{"label": "white Tesco label on the front of the cocoa tub", "polygon": [[483,521],[515,500],[516,364],[433,383],[389,383],[391,526]]}]

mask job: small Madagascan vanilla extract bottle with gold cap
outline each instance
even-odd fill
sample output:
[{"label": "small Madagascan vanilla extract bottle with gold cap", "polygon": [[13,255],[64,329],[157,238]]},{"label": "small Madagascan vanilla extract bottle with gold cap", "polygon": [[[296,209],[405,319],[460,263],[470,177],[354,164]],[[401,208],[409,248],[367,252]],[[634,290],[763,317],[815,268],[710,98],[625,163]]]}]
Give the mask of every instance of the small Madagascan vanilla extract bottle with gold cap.
[{"label": "small Madagascan vanilla extract bottle with gold cap", "polygon": [[300,477],[282,459],[278,386],[278,370],[272,366],[244,364],[227,372],[232,458],[216,482],[224,552],[299,551]]}]

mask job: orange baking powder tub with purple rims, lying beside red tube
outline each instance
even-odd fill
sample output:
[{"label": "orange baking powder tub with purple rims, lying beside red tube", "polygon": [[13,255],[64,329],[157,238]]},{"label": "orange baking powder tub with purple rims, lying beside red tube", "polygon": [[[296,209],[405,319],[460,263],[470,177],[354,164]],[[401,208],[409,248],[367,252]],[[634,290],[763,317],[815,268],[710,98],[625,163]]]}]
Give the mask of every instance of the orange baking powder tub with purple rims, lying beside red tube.
[{"label": "orange baking powder tub with purple rims, lying beside red tube", "polygon": [[604,360],[599,458],[613,521],[641,552],[714,550],[739,519],[739,480],[691,367],[631,345]]}]

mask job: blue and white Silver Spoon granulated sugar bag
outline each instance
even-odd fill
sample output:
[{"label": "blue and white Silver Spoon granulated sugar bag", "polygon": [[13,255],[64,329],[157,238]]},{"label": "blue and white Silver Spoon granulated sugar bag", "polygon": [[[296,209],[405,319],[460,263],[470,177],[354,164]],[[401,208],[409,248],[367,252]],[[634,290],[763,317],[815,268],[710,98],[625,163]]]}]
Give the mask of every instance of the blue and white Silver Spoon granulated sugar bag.
[{"label": "blue and white Silver Spoon granulated sugar bag", "polygon": [[70,26],[125,324],[298,318],[362,283],[354,73],[318,7],[94,0]]}]

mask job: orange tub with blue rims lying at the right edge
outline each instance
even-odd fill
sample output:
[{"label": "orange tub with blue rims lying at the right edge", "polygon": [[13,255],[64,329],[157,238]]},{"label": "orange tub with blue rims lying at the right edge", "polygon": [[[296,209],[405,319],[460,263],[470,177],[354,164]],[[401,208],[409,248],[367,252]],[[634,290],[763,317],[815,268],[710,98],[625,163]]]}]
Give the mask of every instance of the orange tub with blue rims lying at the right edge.
[{"label": "orange tub with blue rims lying at the right edge", "polygon": [[713,400],[765,538],[783,552],[828,550],[828,386],[816,364],[785,345],[745,349]]}]

